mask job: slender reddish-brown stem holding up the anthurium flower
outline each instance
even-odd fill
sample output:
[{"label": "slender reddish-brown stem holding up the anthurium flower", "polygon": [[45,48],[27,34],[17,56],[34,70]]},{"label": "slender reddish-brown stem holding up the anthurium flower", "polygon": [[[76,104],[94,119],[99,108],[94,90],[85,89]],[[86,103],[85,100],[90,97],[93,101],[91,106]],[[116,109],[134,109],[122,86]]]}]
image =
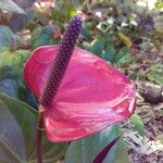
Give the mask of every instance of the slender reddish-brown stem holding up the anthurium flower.
[{"label": "slender reddish-brown stem holding up the anthurium flower", "polygon": [[37,148],[37,162],[42,163],[42,145],[41,145],[41,129],[43,127],[43,112],[39,112],[37,122],[37,136],[36,136],[36,148]]}]

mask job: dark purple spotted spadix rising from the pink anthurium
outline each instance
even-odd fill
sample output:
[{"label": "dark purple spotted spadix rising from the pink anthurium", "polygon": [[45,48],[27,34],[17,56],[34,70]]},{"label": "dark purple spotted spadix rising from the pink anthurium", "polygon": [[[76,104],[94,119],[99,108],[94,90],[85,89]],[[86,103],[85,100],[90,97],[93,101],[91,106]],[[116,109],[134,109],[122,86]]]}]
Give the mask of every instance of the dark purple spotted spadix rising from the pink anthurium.
[{"label": "dark purple spotted spadix rising from the pink anthurium", "polygon": [[39,99],[39,103],[42,106],[50,105],[52,103],[52,99],[57,95],[58,88],[73,54],[76,40],[82,29],[82,17],[78,15],[73,16],[68,23],[67,29],[64,33],[59,51],[52,63],[51,70],[42,89],[41,97]]}]

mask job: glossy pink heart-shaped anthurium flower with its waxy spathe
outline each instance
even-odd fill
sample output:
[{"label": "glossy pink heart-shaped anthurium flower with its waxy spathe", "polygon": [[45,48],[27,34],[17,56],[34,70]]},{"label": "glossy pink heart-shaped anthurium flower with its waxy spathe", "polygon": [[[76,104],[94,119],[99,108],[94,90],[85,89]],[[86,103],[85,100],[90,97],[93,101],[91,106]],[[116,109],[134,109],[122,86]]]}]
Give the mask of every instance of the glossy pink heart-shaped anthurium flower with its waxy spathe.
[{"label": "glossy pink heart-shaped anthurium flower with its waxy spathe", "polygon": [[[75,26],[78,33],[78,24]],[[39,110],[45,112],[47,136],[54,142],[92,135],[109,125],[127,120],[135,110],[134,84],[91,52],[75,48],[65,72],[61,62],[57,63],[58,66],[52,66],[59,60],[59,53],[61,57],[64,55],[64,50],[65,53],[70,50],[71,35],[75,35],[70,28],[65,34],[66,41],[63,39],[60,46],[36,49],[24,70],[27,87],[40,99]],[[47,78],[54,78],[52,73],[60,73],[60,68],[64,72],[61,83],[45,86]],[[43,95],[42,89],[46,89]],[[52,89],[57,89],[54,96],[51,96]]]}]

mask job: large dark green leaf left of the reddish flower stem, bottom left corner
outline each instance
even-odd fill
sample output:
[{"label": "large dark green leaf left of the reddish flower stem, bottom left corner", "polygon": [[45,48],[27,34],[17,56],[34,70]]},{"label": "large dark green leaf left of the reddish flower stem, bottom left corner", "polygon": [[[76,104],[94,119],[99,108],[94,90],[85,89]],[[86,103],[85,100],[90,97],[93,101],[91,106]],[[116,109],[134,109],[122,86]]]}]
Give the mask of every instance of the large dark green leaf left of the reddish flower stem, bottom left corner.
[{"label": "large dark green leaf left of the reddish flower stem, bottom left corner", "polygon": [[25,160],[35,148],[37,112],[25,103],[1,93],[0,100],[1,142],[10,148],[20,160]]}]

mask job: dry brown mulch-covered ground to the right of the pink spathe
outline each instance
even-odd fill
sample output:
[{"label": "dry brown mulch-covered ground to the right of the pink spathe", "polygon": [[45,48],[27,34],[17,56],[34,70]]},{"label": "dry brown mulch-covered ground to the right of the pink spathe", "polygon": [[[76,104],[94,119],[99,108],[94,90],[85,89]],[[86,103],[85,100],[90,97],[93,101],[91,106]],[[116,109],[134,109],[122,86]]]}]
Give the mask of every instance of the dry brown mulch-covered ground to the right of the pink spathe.
[{"label": "dry brown mulch-covered ground to the right of the pink spathe", "polygon": [[156,65],[163,63],[162,57],[163,52],[153,49],[143,53],[137,51],[135,62],[128,65],[128,74],[134,64],[138,68],[136,113],[145,124],[145,137],[140,136],[130,123],[123,124],[124,140],[131,163],[163,162],[163,85],[153,84],[147,78],[153,63]]}]

